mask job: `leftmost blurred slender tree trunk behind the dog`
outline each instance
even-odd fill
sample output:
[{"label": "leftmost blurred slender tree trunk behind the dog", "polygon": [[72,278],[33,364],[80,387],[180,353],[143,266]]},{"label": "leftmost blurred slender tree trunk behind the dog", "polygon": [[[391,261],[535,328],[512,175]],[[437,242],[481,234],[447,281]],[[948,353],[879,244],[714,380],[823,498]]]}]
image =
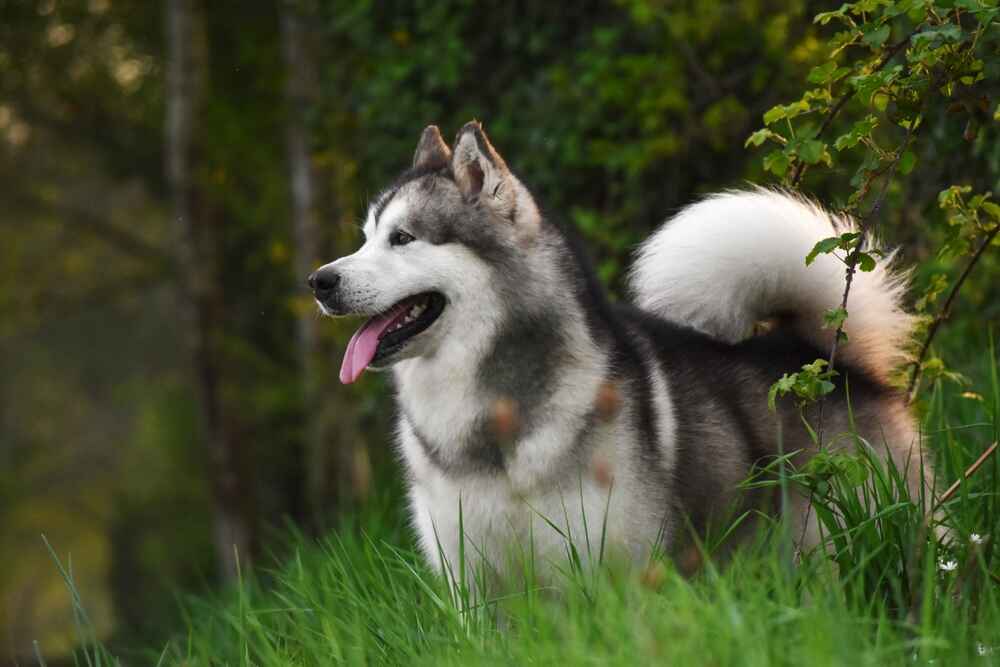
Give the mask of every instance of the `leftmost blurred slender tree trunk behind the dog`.
[{"label": "leftmost blurred slender tree trunk behind the dog", "polygon": [[222,575],[251,557],[255,533],[248,453],[223,393],[225,299],[219,271],[220,219],[208,206],[197,170],[202,159],[197,122],[204,118],[208,44],[200,0],[167,2],[167,179],[177,232],[185,330],[201,403],[214,502],[214,542]]}]

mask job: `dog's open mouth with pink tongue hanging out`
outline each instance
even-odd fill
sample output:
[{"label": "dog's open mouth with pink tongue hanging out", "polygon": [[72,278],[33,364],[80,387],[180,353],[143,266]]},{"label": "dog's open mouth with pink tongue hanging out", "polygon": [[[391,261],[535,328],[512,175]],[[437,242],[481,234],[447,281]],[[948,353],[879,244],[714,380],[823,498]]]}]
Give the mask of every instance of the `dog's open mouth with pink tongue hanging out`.
[{"label": "dog's open mouth with pink tongue hanging out", "polygon": [[370,365],[399,352],[414,337],[434,324],[444,310],[444,296],[425,292],[403,299],[358,329],[344,352],[340,381],[351,384]]}]

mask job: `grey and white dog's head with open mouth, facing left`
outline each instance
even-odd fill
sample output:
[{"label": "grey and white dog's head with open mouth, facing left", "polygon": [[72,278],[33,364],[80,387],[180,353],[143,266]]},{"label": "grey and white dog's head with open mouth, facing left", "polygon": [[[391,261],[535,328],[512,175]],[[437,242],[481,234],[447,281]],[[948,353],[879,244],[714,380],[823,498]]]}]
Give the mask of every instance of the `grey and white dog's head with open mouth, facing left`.
[{"label": "grey and white dog's head with open mouth, facing left", "polygon": [[478,122],[451,149],[424,130],[413,166],[368,208],[365,242],[309,276],[326,315],[366,315],[340,380],[434,354],[445,339],[476,344],[490,328],[498,272],[510,280],[542,224],[528,190]]}]

